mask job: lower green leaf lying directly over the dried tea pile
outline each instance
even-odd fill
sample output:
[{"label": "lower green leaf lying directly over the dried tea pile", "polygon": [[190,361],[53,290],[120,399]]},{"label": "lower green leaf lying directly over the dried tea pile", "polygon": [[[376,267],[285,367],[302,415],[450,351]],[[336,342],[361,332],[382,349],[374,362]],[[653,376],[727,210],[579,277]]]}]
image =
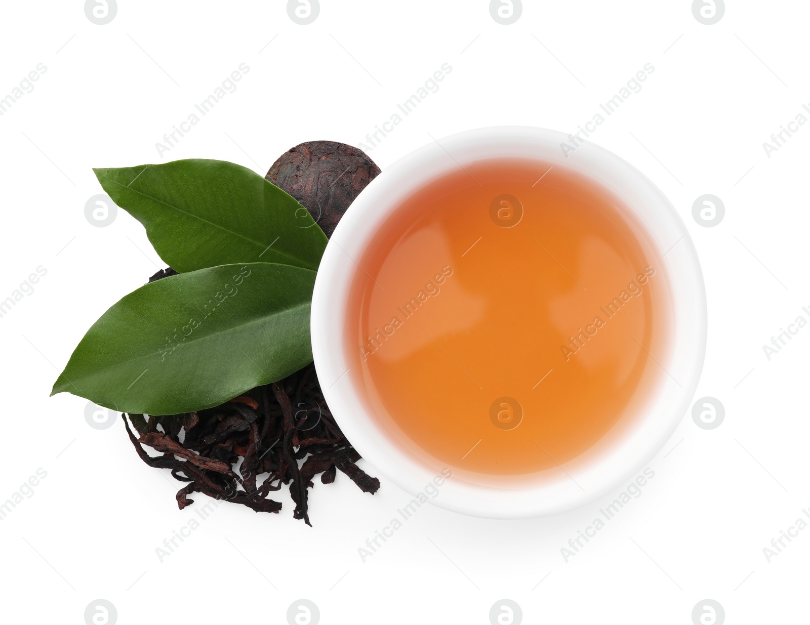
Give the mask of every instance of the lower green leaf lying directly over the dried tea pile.
[{"label": "lower green leaf lying directly over the dried tea pile", "polygon": [[313,270],[259,262],[144,285],[92,325],[51,394],[174,415],[278,381],[312,362],[314,283]]}]

